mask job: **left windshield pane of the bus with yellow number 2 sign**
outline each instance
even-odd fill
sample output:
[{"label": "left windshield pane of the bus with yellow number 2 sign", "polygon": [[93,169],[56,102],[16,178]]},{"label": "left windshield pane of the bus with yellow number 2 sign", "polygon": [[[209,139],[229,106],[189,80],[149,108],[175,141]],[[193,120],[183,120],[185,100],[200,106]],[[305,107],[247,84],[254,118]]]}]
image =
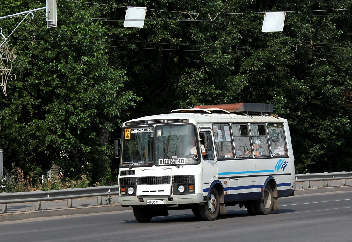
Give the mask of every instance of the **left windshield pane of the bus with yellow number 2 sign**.
[{"label": "left windshield pane of the bus with yellow number 2 sign", "polygon": [[125,128],[121,166],[153,165],[153,127]]}]

